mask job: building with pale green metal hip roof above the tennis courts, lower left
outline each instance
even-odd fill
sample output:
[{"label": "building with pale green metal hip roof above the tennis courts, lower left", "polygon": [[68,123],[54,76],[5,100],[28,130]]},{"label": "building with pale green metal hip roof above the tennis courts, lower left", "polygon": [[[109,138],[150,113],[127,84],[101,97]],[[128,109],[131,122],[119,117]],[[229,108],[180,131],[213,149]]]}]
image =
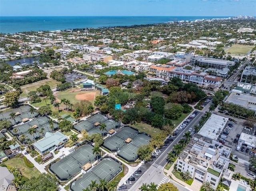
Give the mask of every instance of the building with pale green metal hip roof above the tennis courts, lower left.
[{"label": "building with pale green metal hip roof above the tennis courts, lower left", "polygon": [[48,151],[63,148],[67,141],[68,137],[60,131],[55,133],[46,132],[45,138],[35,142],[33,145],[40,154],[45,154]]}]

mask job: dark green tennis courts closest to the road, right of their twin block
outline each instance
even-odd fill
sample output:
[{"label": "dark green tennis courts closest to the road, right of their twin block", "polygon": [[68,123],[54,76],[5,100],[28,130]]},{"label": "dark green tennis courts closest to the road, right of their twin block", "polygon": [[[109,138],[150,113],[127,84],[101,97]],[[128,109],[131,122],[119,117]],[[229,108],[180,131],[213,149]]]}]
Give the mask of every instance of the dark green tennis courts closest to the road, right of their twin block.
[{"label": "dark green tennis courts closest to the road, right of their twin block", "polygon": [[138,148],[144,144],[147,144],[149,140],[149,136],[138,134],[130,143],[126,143],[122,148],[120,148],[117,155],[128,162],[136,161]]}]

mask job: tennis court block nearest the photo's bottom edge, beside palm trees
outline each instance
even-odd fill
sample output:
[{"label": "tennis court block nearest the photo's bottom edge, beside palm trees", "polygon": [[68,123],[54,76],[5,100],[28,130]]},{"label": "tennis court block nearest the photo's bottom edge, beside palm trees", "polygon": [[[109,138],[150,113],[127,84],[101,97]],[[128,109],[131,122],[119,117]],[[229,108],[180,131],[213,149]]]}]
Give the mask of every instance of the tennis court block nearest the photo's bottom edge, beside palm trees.
[{"label": "tennis court block nearest the photo's bottom edge, beside palm trees", "polygon": [[104,158],[100,163],[94,166],[90,171],[85,173],[78,180],[71,183],[70,189],[72,191],[82,191],[86,189],[91,181],[100,183],[100,179],[104,179],[109,182],[119,172],[122,171],[122,165],[111,158]]}]

